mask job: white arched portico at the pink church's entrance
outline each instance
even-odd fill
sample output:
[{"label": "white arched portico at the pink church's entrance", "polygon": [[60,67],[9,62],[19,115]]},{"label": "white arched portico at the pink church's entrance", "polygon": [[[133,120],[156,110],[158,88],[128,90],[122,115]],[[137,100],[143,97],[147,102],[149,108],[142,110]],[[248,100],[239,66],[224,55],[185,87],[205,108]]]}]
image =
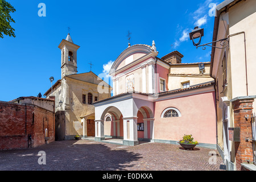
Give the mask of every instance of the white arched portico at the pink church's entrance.
[{"label": "white arched portico at the pink church's entrance", "polygon": [[[154,104],[147,96],[134,93],[126,93],[94,104],[95,106],[95,139],[105,140],[106,135],[113,138],[123,139],[123,145],[134,146],[138,144],[138,111],[143,126],[147,131],[143,133],[142,139],[148,140],[153,136],[153,112]],[[105,121],[106,118],[110,121]],[[105,125],[105,126],[104,126]],[[112,126],[112,127],[110,127]]]}]

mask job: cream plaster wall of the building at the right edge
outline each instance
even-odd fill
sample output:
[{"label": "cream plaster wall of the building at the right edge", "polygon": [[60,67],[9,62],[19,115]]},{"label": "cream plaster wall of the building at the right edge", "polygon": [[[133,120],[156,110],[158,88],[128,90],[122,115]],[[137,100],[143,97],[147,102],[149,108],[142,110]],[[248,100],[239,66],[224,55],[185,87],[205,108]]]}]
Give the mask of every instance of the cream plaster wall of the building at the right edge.
[{"label": "cream plaster wall of the building at the right edge", "polygon": [[[218,24],[217,40],[227,38],[229,35],[229,46],[225,49],[215,49],[212,75],[216,77],[216,106],[217,106],[217,135],[218,146],[224,150],[224,113],[221,108],[221,98],[232,100],[238,96],[246,96],[247,90],[249,96],[256,95],[256,85],[254,68],[256,67],[256,1],[241,1],[235,6],[229,8],[228,12],[223,12],[220,16]],[[244,34],[246,35],[246,58],[245,59],[245,42]],[[238,34],[237,34],[238,33]],[[237,35],[235,35],[237,34]],[[220,47],[220,44],[216,45]],[[226,55],[226,73],[227,84],[224,85],[222,79],[222,59]],[[246,61],[245,61],[246,60]],[[247,63],[247,81],[248,89],[246,88],[246,64]],[[256,103],[253,103],[256,108]],[[254,109],[255,111],[255,109]],[[234,126],[234,114],[232,103],[229,104],[228,127]],[[234,162],[234,143],[228,141],[230,160]]]}]

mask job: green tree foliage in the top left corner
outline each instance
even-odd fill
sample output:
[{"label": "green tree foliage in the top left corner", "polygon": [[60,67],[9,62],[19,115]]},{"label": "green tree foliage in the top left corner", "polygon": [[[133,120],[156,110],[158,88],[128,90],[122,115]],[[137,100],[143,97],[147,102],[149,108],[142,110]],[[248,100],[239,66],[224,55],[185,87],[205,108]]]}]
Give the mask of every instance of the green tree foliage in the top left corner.
[{"label": "green tree foliage in the top left corner", "polygon": [[15,23],[14,19],[11,18],[10,13],[14,13],[15,11],[16,10],[9,2],[0,0],[0,38],[3,38],[3,34],[13,36],[15,38],[15,30],[10,25],[11,22]]}]

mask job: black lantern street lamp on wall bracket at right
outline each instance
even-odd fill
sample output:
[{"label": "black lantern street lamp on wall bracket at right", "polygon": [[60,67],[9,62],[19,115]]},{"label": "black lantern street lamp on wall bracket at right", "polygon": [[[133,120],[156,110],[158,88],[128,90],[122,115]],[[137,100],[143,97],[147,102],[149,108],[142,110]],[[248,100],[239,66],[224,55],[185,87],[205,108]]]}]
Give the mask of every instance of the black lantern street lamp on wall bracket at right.
[{"label": "black lantern street lamp on wall bracket at right", "polygon": [[[210,46],[210,47],[214,47],[214,48],[218,48],[218,49],[225,49],[226,47],[229,46],[229,36],[228,38],[225,38],[225,39],[220,39],[220,40],[216,40],[214,42],[210,42],[210,43],[207,43],[207,44],[203,44],[203,45],[200,45],[201,43],[201,38],[204,36],[204,28],[199,28],[199,27],[195,27],[194,30],[192,32],[189,33],[189,38],[190,40],[193,41],[193,45],[196,46],[196,48],[198,47],[201,47],[202,46],[202,49],[205,50],[206,47],[205,46]],[[194,39],[197,39],[197,38],[200,38],[199,39],[199,42],[198,43],[195,43],[194,42]],[[211,46],[209,44],[213,44],[216,45],[215,43],[217,42],[220,42],[220,45],[222,47],[216,47],[216,46]],[[226,45],[226,43],[228,43]],[[199,46],[200,45],[200,46]],[[224,46],[224,47],[223,47]]]}]

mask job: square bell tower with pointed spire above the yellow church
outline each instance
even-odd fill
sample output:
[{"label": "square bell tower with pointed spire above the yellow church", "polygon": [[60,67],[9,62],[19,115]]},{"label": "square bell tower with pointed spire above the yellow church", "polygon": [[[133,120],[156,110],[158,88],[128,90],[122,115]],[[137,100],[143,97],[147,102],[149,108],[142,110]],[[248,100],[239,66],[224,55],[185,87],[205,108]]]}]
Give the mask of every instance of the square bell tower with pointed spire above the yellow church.
[{"label": "square bell tower with pointed spire above the yellow church", "polygon": [[59,48],[61,49],[61,79],[67,75],[77,73],[77,46],[73,43],[70,34],[66,39],[61,40]]}]

